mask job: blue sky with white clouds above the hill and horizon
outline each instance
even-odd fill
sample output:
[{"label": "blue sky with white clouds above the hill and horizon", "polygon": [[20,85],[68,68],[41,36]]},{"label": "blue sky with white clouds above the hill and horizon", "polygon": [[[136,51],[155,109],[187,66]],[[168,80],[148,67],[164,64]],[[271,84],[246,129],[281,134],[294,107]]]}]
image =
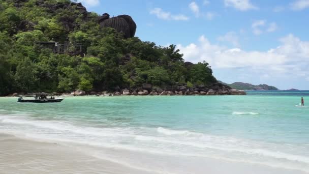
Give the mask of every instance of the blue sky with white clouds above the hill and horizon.
[{"label": "blue sky with white clouds above the hill and horizon", "polygon": [[309,0],[80,0],[88,11],[130,15],[136,37],[177,45],[214,76],[309,90]]}]

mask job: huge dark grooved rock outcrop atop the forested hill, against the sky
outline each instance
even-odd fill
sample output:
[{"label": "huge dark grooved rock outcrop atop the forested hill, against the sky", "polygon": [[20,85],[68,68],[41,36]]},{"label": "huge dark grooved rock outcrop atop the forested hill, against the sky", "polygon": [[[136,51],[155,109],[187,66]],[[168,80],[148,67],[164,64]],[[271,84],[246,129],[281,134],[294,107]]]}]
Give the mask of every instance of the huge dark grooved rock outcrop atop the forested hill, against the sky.
[{"label": "huge dark grooved rock outcrop atop the forested hill, against the sky", "polygon": [[119,33],[125,34],[125,38],[132,38],[135,36],[136,23],[129,15],[119,15],[117,17],[109,18],[109,14],[104,13],[99,17],[101,27],[114,28]]}]

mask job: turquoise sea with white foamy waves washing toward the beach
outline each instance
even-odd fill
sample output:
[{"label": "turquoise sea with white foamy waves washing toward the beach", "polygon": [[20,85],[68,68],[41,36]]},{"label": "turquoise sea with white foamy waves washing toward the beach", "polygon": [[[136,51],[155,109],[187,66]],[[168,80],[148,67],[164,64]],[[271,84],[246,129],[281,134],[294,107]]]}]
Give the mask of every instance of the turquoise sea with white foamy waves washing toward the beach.
[{"label": "turquoise sea with white foamy waves washing toward the beach", "polygon": [[[309,103],[304,91],[68,97],[49,104],[0,98],[0,128],[95,147],[103,159],[159,173],[199,173],[196,165],[209,158],[309,172],[309,108],[295,107],[300,96]],[[170,158],[197,162],[173,167]]]}]

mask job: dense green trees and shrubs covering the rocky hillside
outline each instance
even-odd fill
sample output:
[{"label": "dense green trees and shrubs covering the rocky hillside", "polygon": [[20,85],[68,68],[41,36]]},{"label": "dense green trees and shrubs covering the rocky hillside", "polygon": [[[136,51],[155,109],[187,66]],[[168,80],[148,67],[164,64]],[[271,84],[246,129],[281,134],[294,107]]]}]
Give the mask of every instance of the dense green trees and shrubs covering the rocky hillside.
[{"label": "dense green trees and shrubs covering the rocky hillside", "polygon": [[[113,28],[100,28],[96,13],[81,13],[70,1],[0,0],[0,95],[14,92],[114,91],[143,83],[208,85],[217,80],[208,63],[186,66],[175,45],[157,46],[137,37],[125,39]],[[67,8],[52,9],[57,3]],[[34,41],[68,42],[54,53]],[[73,43],[82,43],[76,53]]]}]

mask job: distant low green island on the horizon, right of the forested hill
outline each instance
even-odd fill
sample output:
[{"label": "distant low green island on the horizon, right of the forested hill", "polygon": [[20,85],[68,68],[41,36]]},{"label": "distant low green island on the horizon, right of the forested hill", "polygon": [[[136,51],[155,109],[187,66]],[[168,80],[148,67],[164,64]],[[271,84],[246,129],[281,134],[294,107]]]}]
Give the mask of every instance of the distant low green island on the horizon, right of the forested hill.
[{"label": "distant low green island on the horizon, right of the forested hill", "polygon": [[269,86],[267,84],[259,84],[259,85],[254,85],[250,83],[243,83],[243,82],[234,82],[232,84],[224,83],[221,81],[221,83],[226,84],[230,86],[233,89],[236,90],[259,90],[259,91],[268,91],[268,90],[279,90],[274,86]]}]

